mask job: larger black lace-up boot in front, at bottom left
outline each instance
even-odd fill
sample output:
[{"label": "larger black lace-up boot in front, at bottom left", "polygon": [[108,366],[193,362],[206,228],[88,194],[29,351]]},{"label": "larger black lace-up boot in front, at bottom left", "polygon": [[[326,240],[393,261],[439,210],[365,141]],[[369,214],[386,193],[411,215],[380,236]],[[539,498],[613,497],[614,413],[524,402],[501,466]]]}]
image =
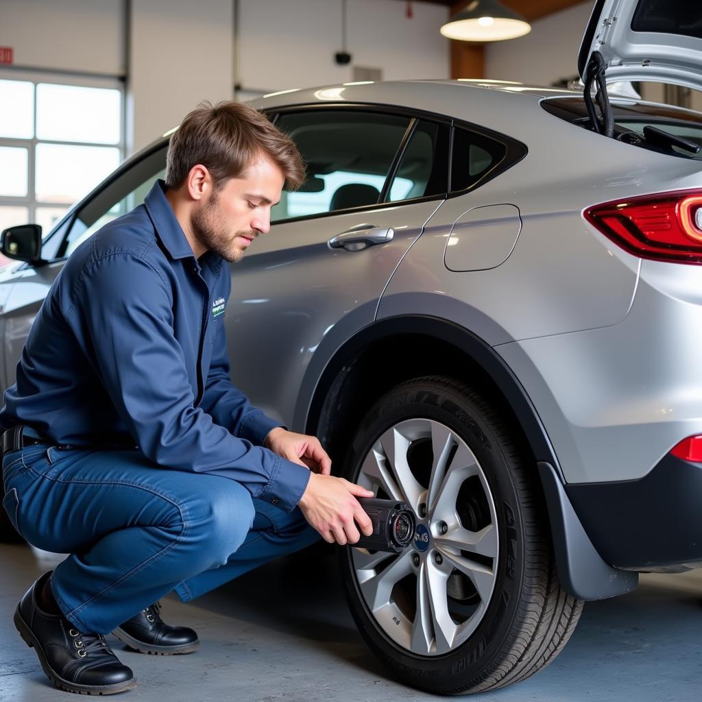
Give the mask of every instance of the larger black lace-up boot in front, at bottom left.
[{"label": "larger black lace-up boot in front, at bottom left", "polygon": [[135,687],[131,669],[120,663],[102,634],[79,631],[62,614],[41,609],[39,592],[51,573],[35,581],[15,609],[15,626],[27,646],[37,651],[48,679],[62,690],[84,695]]}]

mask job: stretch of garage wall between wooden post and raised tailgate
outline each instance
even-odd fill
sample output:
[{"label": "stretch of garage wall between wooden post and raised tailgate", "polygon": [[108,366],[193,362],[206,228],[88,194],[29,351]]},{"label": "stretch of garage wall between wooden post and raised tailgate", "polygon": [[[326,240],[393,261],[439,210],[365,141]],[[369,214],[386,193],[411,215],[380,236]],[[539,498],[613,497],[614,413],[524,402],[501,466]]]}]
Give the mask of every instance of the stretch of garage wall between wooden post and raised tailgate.
[{"label": "stretch of garage wall between wooden post and raised tailgate", "polygon": [[559,78],[576,76],[578,50],[591,11],[588,0],[532,22],[525,37],[488,44],[484,77],[548,86]]}]

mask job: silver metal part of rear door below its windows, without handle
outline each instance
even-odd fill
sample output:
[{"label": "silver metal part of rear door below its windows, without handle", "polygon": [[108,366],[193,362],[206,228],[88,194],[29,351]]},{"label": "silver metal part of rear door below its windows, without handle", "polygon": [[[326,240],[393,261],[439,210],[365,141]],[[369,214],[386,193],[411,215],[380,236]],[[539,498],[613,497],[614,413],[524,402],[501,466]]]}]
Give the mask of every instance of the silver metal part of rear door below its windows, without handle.
[{"label": "silver metal part of rear door below its windows, without handle", "polygon": [[[232,378],[254,404],[296,425],[310,359],[325,338],[331,355],[373,321],[385,284],[440,202],[282,222],[253,241],[232,265],[226,314]],[[359,251],[330,248],[331,237],[364,223],[392,227],[395,237]],[[252,373],[247,359],[265,373]]]}]

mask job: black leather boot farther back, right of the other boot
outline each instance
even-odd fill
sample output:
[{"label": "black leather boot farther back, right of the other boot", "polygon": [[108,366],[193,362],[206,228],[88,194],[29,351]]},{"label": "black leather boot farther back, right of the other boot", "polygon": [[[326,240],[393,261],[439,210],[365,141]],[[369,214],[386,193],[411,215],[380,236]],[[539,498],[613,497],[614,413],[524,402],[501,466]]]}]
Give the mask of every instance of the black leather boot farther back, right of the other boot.
[{"label": "black leather boot farther back, right of the other boot", "polygon": [[120,624],[112,633],[128,647],[143,654],[190,654],[200,645],[187,626],[169,626],[161,619],[161,604],[154,602]]}]

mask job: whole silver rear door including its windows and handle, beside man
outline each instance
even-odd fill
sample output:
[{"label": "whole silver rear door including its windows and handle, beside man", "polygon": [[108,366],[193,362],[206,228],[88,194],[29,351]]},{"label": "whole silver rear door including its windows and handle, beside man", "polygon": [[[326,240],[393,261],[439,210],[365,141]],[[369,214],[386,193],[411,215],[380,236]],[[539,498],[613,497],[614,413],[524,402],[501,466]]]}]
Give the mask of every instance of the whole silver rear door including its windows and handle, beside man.
[{"label": "whole silver rear door including its windows and handle, beside man", "polygon": [[227,339],[234,383],[303,430],[329,357],[373,321],[445,197],[449,127],[346,105],[296,108],[276,124],[303,154],[307,182],[284,193],[270,232],[231,265]]}]

